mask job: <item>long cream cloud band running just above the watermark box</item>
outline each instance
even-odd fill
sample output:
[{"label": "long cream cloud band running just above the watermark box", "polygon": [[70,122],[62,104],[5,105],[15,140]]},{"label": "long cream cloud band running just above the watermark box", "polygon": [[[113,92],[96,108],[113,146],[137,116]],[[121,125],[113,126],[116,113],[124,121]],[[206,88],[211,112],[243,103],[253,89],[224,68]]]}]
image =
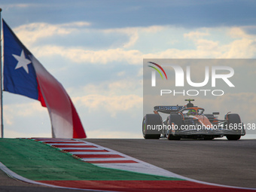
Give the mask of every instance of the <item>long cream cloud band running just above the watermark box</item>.
[{"label": "long cream cloud band running just above the watermark box", "polygon": [[131,65],[142,65],[142,59],[147,58],[210,58],[210,59],[235,59],[253,58],[256,56],[254,39],[242,38],[230,44],[221,44],[218,41],[198,39],[195,41],[197,49],[167,49],[157,53],[142,53],[140,50],[125,50],[123,48],[108,50],[85,50],[83,47],[43,46],[35,48],[37,56],[60,55],[72,62],[96,63],[106,65],[108,62],[128,62]]}]

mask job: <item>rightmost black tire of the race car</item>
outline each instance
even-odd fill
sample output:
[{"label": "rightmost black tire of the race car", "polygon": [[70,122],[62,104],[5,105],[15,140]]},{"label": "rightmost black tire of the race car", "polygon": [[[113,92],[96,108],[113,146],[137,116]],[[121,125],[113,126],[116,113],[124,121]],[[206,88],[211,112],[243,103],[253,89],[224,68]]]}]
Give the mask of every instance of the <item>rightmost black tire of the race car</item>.
[{"label": "rightmost black tire of the race car", "polygon": [[[236,125],[237,127],[241,123],[241,119],[239,114],[227,114],[227,127],[233,127]],[[234,130],[236,131],[233,135],[226,135],[227,140],[239,140],[241,138],[242,130]]]}]

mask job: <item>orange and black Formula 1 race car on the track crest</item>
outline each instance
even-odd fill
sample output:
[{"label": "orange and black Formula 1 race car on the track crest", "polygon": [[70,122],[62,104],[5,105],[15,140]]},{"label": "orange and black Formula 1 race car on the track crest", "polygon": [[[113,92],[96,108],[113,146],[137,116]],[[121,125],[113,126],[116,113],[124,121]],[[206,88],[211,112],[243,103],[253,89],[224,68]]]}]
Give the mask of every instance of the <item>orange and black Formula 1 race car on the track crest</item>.
[{"label": "orange and black Formula 1 race car on the track crest", "polygon": [[[239,140],[245,136],[244,124],[239,114],[224,116],[219,120],[216,115],[203,114],[204,109],[194,106],[194,99],[185,99],[187,105],[155,106],[154,114],[146,114],[142,122],[142,133],[145,139],[167,138],[179,139],[205,139],[212,140],[226,136],[228,140]],[[162,120],[159,113],[169,114]]]}]

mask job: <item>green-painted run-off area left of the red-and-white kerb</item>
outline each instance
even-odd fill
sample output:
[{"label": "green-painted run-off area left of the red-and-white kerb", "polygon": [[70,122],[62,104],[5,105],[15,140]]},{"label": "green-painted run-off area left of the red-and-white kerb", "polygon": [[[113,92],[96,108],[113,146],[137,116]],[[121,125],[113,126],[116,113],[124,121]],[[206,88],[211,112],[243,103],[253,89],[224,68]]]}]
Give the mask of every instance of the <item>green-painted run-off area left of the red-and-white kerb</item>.
[{"label": "green-painted run-off area left of the red-and-white kerb", "polygon": [[101,168],[30,139],[0,139],[0,161],[18,175],[35,181],[181,180]]}]

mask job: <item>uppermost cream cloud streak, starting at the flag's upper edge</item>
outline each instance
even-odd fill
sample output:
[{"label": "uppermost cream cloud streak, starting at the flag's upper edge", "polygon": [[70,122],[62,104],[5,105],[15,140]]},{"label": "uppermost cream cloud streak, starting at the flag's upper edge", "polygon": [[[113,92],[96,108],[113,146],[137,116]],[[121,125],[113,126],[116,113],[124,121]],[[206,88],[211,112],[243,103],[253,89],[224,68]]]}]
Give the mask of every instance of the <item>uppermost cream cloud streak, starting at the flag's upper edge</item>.
[{"label": "uppermost cream cloud streak, starting at the flag's upper edge", "polygon": [[[81,21],[56,25],[50,23],[29,23],[15,28],[14,32],[16,32],[24,44],[31,46],[40,38],[47,38],[53,35],[69,35],[72,32],[83,34],[83,27],[87,26],[91,26],[91,23]],[[90,32],[92,34],[95,32],[101,32],[102,34],[125,34],[129,37],[129,41],[123,42],[123,48],[128,48],[136,44],[136,41],[139,39],[139,33],[155,33],[164,28],[164,26],[128,27],[123,29],[91,29]]]}]

